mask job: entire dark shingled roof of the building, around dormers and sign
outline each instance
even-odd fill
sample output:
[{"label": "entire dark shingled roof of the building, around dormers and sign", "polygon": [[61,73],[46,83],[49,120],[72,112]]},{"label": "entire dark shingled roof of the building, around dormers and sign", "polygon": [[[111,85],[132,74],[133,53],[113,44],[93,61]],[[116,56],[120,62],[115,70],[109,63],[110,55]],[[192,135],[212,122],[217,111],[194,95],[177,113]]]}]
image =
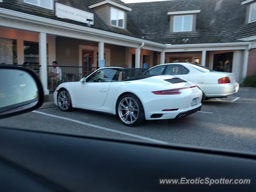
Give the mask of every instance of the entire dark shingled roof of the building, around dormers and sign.
[{"label": "entire dark shingled roof of the building, around dormers and sign", "polygon": [[[127,29],[109,26],[88,6],[103,0],[55,0],[56,2],[94,13],[91,28],[144,38],[163,44],[199,44],[217,42],[237,42],[239,38],[256,35],[256,22],[246,22],[244,0],[170,0],[125,4],[132,8],[127,16]],[[256,0],[254,0],[256,2]],[[74,20],[57,18],[54,10],[24,3],[23,0],[4,0],[0,7],[68,22],[87,27]],[[171,32],[168,12],[201,10],[197,14],[196,30],[192,32]],[[184,42],[183,39],[188,39]]]}]

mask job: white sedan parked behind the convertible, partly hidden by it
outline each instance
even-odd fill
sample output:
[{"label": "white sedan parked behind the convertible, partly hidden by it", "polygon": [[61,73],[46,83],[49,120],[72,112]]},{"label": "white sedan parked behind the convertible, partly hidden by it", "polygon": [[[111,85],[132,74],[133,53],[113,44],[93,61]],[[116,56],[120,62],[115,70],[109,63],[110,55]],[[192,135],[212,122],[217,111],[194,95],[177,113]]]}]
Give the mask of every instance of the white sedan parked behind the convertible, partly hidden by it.
[{"label": "white sedan parked behind the convertible, partly hidden by it", "polygon": [[173,75],[196,84],[203,91],[203,100],[222,98],[238,92],[236,74],[217,72],[192,63],[169,63],[150,68],[147,74]]}]

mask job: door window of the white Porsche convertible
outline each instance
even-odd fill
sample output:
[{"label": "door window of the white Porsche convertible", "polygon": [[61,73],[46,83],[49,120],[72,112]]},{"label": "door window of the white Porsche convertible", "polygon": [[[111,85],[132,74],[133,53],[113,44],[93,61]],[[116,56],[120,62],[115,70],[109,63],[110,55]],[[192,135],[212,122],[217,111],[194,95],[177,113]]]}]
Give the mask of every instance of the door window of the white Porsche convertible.
[{"label": "door window of the white Porsche convertible", "polygon": [[96,83],[96,82],[112,82],[117,81],[118,74],[121,70],[116,69],[102,69],[90,75],[86,82]]}]

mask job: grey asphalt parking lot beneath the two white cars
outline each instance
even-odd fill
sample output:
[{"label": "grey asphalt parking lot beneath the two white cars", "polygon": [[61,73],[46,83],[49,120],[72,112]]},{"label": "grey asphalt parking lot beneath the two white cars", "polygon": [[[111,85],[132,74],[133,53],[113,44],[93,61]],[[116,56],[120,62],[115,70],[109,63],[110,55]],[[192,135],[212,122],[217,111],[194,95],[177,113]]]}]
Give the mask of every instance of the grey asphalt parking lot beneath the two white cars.
[{"label": "grey asphalt parking lot beneath the two white cars", "polygon": [[256,152],[256,88],[240,88],[228,98],[203,102],[201,112],[183,119],[124,126],[116,116],[53,105],[0,120],[0,126],[64,134],[90,135],[163,144],[182,144]]}]

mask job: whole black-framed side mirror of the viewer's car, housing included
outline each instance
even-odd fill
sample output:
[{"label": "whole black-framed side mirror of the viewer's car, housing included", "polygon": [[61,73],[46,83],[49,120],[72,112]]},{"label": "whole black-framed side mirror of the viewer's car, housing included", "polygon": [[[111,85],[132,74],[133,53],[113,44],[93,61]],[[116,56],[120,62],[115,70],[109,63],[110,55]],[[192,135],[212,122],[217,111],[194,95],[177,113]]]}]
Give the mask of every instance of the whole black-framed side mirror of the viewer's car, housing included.
[{"label": "whole black-framed side mirror of the viewer's car, housing included", "polygon": [[30,112],[43,104],[43,87],[26,68],[0,65],[0,119]]}]

